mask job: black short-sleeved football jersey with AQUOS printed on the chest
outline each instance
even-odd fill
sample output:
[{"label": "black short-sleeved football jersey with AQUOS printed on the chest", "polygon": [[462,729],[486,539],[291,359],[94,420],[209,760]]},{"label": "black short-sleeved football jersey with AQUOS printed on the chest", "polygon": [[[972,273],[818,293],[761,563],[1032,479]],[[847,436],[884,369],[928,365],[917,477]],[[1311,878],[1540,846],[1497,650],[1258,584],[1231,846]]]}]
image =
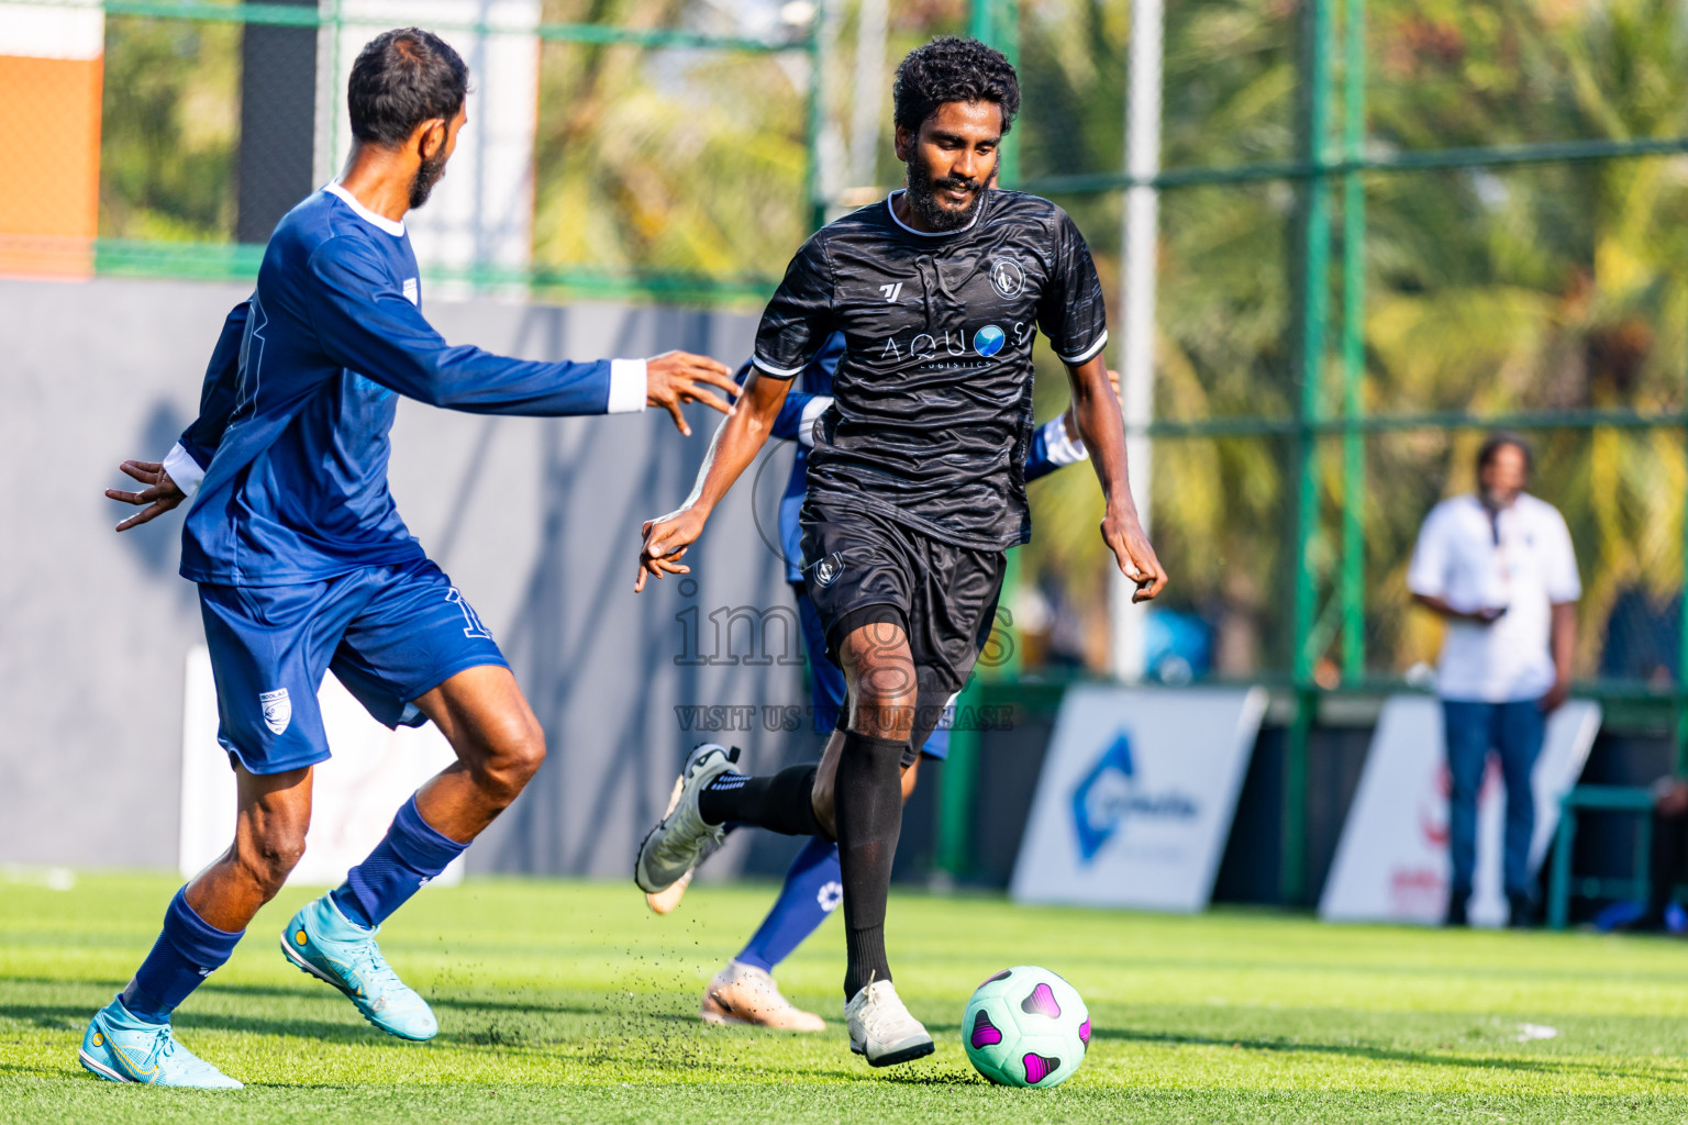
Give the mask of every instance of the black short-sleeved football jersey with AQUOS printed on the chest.
[{"label": "black short-sleeved football jersey with AQUOS printed on the chest", "polygon": [[972,224],[927,234],[886,199],[803,245],[761,315],[753,359],[788,379],[844,334],[834,403],[809,454],[815,503],[1004,550],[1031,535],[1023,469],[1038,329],[1070,364],[1107,342],[1102,283],[1065,211],[987,191]]}]

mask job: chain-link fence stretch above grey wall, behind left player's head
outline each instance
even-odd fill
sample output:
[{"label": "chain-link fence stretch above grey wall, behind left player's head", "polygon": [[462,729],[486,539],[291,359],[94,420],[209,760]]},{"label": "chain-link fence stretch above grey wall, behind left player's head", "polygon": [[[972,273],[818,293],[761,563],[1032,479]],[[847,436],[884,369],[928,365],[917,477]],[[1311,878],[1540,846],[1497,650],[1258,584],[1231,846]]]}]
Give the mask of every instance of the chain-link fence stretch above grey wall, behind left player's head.
[{"label": "chain-link fence stretch above grey wall, behind left player's head", "polygon": [[410,223],[432,278],[753,300],[812,221],[812,15],[800,2],[5,0],[0,84],[24,126],[0,268],[252,277],[280,216],[344,165],[358,49],[425,24],[469,64],[474,118]]}]

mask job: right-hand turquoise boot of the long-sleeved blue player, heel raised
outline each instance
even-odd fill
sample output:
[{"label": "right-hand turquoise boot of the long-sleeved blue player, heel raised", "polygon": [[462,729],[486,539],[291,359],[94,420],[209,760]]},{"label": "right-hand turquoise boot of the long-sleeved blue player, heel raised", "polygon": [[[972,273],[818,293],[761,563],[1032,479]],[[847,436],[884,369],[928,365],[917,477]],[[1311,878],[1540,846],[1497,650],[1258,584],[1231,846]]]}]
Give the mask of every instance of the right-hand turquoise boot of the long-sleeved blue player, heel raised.
[{"label": "right-hand turquoise boot of the long-sleeved blue player, heel raised", "polygon": [[334,985],[353,1007],[388,1036],[422,1042],[439,1032],[427,1000],[398,980],[375,945],[375,929],[346,921],[334,899],[322,896],[294,914],[282,931],[282,953],[300,972]]}]

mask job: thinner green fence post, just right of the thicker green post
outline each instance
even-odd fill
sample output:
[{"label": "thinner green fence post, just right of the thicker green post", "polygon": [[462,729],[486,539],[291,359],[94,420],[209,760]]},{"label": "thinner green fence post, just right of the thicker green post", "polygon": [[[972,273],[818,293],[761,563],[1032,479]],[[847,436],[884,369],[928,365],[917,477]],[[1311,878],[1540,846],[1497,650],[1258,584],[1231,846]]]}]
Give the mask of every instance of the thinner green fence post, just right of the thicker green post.
[{"label": "thinner green fence post, just right of the thicker green post", "polygon": [[1342,29],[1342,676],[1366,676],[1366,0],[1347,0]]}]

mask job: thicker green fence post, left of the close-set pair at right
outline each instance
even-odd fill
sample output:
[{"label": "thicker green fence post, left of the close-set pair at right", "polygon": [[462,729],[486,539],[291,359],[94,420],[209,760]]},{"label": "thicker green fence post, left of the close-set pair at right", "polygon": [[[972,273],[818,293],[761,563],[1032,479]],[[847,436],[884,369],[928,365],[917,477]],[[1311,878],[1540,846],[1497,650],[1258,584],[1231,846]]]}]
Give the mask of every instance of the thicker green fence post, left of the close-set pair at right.
[{"label": "thicker green fence post, left of the close-set pair at right", "polygon": [[1322,412],[1325,366],[1325,319],[1330,285],[1330,167],[1325,159],[1325,135],[1330,121],[1330,0],[1313,0],[1307,8],[1301,49],[1301,155],[1312,165],[1301,192],[1301,221],[1296,246],[1298,270],[1295,300],[1298,378],[1301,412],[1296,432],[1298,494],[1295,509],[1295,617],[1293,661],[1296,707],[1285,747],[1283,771],[1283,853],[1280,889],[1290,904],[1307,897],[1307,744],[1318,707],[1313,681],[1310,636],[1318,599],[1312,546],[1318,535],[1318,420]]}]

